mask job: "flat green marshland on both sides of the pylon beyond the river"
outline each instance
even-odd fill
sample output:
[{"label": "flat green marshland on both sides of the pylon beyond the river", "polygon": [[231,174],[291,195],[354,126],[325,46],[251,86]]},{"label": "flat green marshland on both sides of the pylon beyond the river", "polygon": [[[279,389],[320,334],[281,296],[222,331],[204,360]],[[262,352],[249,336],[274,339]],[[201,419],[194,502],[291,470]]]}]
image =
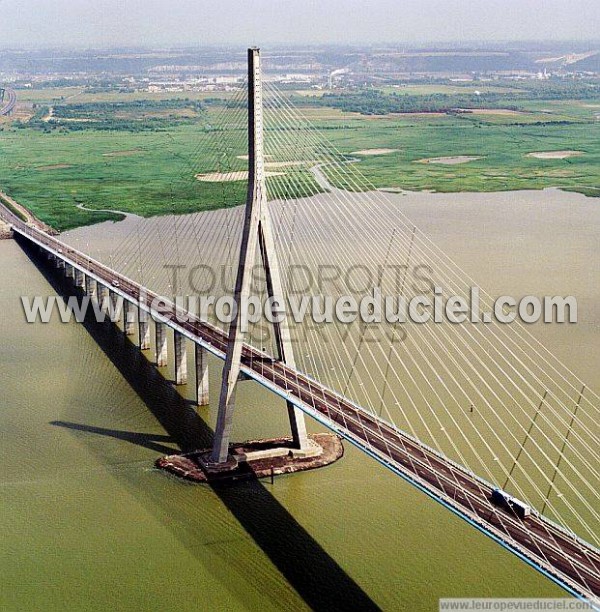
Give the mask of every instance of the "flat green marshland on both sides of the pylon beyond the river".
[{"label": "flat green marshland on both sides of the pylon beyond the river", "polygon": [[[200,102],[203,107],[192,112],[189,101],[170,94],[153,98],[154,110],[138,112],[140,97],[79,92],[30,90],[28,99],[38,104],[68,98],[67,105],[78,107],[59,109],[56,123],[44,122],[41,109],[31,123],[0,126],[0,189],[43,221],[64,230],[118,218],[78,205],[151,216],[243,202],[243,181],[195,179],[196,173],[219,169],[218,146],[225,135],[215,132],[213,124],[222,107]],[[113,99],[114,107],[109,104]],[[157,101],[176,99],[181,108],[176,103],[168,103],[167,110],[157,106]],[[523,99],[518,110],[459,114],[361,115],[312,105],[300,110],[344,154],[397,150],[362,156],[356,164],[376,187],[456,192],[556,186],[600,195],[599,98]],[[240,120],[236,111],[228,112]],[[240,137],[229,146],[233,162],[227,170],[245,167],[236,158],[244,153],[243,124],[238,131]],[[548,160],[527,156],[561,150],[581,154]],[[459,155],[479,159],[459,165],[419,163]]]}]

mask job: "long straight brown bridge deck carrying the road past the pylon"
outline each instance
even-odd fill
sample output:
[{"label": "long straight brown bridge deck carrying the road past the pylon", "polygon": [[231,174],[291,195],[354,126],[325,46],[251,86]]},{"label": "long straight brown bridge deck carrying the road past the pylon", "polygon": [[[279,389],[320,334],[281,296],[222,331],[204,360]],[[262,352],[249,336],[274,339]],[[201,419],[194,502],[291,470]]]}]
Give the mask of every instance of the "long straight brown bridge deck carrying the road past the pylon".
[{"label": "long straight brown bridge deck carrying the road past the pylon", "polygon": [[[151,310],[152,301],[159,297],[156,294],[27,226],[7,209],[2,207],[0,212],[16,233],[126,299],[138,303],[141,298],[140,307],[144,310],[224,359],[227,335],[222,330],[191,315],[188,321],[179,320],[170,302],[157,314]],[[114,281],[118,281],[118,288]],[[342,435],[571,593],[591,599],[600,596],[600,553],[595,547],[535,512],[521,520],[497,507],[491,501],[492,485],[301,372],[248,344],[244,344],[242,355],[242,370],[249,377]]]}]

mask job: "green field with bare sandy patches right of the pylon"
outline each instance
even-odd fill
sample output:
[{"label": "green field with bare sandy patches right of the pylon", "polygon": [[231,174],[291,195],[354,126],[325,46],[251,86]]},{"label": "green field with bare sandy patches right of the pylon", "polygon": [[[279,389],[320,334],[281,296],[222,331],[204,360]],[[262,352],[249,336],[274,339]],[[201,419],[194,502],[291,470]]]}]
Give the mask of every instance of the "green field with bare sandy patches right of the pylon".
[{"label": "green field with bare sandy patches right of the pylon", "polygon": [[[462,120],[399,125],[370,124],[362,134],[340,138],[340,147],[399,148],[386,156],[365,157],[360,171],[377,187],[407,190],[504,191],[561,187],[600,195],[598,131],[587,125],[531,126],[470,124]],[[569,159],[528,157],[535,151],[578,150]],[[423,164],[419,160],[446,156],[480,159],[458,165]],[[384,159],[385,157],[385,159]]]}]

